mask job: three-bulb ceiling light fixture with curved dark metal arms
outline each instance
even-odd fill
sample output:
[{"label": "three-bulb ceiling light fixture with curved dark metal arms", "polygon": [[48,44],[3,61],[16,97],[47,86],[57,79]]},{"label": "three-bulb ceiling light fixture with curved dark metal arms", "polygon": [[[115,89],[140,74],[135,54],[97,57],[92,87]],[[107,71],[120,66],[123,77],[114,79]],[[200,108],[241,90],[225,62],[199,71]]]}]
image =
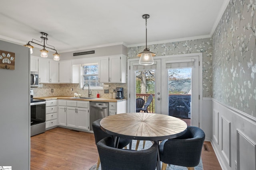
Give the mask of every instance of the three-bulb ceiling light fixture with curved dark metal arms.
[{"label": "three-bulb ceiling light fixture with curved dark metal arms", "polygon": [[[58,52],[57,52],[57,50],[55,49],[55,47],[52,46],[52,45],[47,44],[47,40],[48,40],[47,36],[48,36],[48,33],[41,32],[41,34],[42,34],[42,36],[41,36],[40,38],[42,39],[42,41],[38,41],[38,40],[36,40],[36,39],[32,39],[32,41],[28,41],[28,43],[27,43],[26,45],[24,45],[24,46],[30,48],[30,54],[33,53],[32,48],[34,48],[32,45],[30,45],[30,43],[34,43],[34,44],[37,44],[37,45],[42,46],[43,49],[40,50],[40,51],[41,51],[41,57],[48,57],[47,53],[48,53],[49,51],[47,51],[45,48],[52,49],[52,50],[55,51],[55,53],[53,54],[53,59],[56,60],[56,61],[59,61],[59,60],[60,60],[60,55],[58,54]],[[35,43],[33,40],[38,41],[38,42],[40,42],[40,43],[42,43],[42,42],[44,41],[44,45]],[[53,48],[46,47],[45,44],[46,44],[46,45],[49,45],[49,46],[51,46],[51,47],[53,47]]]}]

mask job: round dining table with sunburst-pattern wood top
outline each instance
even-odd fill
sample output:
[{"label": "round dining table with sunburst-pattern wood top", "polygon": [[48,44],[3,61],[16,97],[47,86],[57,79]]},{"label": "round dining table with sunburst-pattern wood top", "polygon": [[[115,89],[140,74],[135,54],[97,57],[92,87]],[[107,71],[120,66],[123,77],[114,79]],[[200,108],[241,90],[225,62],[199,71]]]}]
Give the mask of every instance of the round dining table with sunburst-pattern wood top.
[{"label": "round dining table with sunburst-pattern wood top", "polygon": [[[158,141],[183,135],[186,132],[187,124],[181,119],[169,115],[140,112],[121,113],[104,117],[100,121],[100,128],[118,139],[122,137],[125,139],[154,141],[158,144]],[[159,152],[157,169],[160,170]]]}]

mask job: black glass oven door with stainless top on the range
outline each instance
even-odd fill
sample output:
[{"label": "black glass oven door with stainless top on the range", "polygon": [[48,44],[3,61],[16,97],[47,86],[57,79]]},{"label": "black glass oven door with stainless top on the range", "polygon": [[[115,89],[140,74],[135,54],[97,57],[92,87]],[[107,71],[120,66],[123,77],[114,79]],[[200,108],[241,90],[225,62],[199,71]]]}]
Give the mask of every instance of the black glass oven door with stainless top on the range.
[{"label": "black glass oven door with stainless top on the range", "polygon": [[31,106],[31,125],[45,122],[46,109],[45,102],[33,102]]}]

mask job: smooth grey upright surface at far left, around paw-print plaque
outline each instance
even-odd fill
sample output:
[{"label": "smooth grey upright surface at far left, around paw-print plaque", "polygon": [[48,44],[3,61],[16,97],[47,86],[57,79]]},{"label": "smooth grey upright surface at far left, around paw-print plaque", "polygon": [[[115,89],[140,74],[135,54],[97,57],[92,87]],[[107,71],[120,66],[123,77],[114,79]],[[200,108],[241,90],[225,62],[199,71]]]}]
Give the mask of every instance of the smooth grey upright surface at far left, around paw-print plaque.
[{"label": "smooth grey upright surface at far left, around paw-print plaque", "polygon": [[15,53],[15,70],[0,69],[0,166],[28,170],[30,163],[30,57],[27,47],[0,41]]}]

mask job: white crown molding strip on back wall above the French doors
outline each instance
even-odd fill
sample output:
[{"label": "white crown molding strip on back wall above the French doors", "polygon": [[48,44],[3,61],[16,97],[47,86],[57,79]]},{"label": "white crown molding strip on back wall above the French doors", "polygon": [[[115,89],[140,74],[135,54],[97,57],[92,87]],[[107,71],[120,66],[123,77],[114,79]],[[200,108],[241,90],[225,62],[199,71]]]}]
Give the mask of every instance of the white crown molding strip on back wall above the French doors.
[{"label": "white crown molding strip on back wall above the French doors", "polygon": [[[154,42],[148,42],[147,45],[154,45],[154,44],[164,44],[164,43],[172,43],[177,41],[188,41],[188,40],[194,40],[194,39],[204,39],[204,38],[210,38],[211,35],[200,35],[196,37],[187,37],[187,38],[179,38],[179,39],[169,39],[169,40],[163,40],[163,41],[154,41]],[[139,46],[145,46],[146,43],[140,43],[140,44],[132,44],[128,45],[127,47],[139,47]]]}]

